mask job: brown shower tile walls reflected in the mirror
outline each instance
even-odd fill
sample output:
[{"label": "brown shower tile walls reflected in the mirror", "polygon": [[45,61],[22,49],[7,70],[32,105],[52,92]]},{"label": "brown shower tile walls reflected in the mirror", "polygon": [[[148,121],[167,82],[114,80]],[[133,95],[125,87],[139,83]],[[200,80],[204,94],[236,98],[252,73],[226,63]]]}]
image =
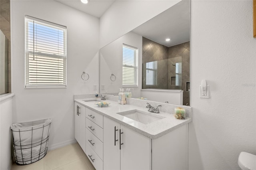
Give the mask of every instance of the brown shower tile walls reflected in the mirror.
[{"label": "brown shower tile walls reflected in the mirror", "polygon": [[[175,77],[175,66],[173,64],[182,63],[182,84],[183,105],[190,105],[189,92],[186,91],[186,82],[190,81],[190,42],[181,43],[172,47],[166,47],[152,40],[142,37],[142,63],[158,61],[158,85],[146,86],[146,75],[143,73],[143,89],[177,89],[171,77]],[[168,60],[168,61],[167,61]],[[145,69],[143,69],[145,70]],[[168,71],[167,71],[168,70]],[[174,78],[175,79],[175,78]]]}]

